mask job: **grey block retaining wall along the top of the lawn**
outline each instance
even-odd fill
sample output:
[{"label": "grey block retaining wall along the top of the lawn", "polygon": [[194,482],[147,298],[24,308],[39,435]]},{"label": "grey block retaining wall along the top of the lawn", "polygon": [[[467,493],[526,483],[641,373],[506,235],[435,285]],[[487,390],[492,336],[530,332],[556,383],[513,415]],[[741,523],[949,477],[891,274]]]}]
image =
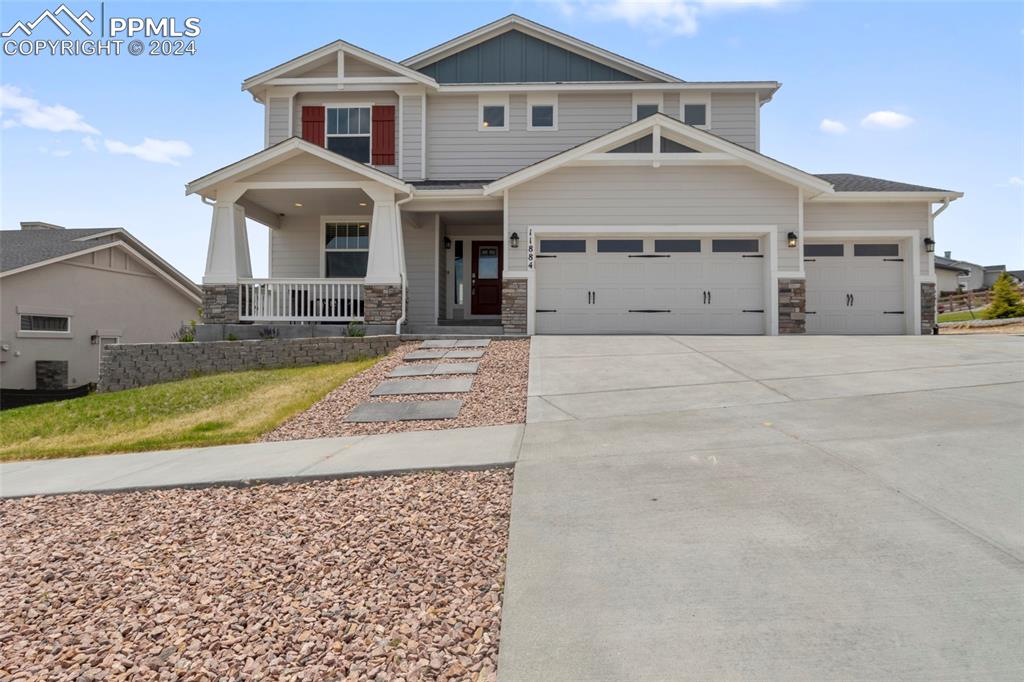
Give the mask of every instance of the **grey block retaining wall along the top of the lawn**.
[{"label": "grey block retaining wall along the top of the lawn", "polygon": [[148,386],[204,374],[344,363],[390,352],[393,335],[214,341],[210,343],[125,343],[103,348],[99,392]]}]

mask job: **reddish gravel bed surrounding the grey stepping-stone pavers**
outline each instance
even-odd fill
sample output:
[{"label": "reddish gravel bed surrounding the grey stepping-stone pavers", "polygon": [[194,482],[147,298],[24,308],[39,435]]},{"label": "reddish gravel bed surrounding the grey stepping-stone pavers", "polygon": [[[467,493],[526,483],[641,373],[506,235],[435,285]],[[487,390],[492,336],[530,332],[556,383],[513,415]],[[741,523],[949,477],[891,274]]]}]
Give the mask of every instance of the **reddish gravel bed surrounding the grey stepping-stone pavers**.
[{"label": "reddish gravel bed surrounding the grey stepping-stone pavers", "polygon": [[[479,363],[472,376],[473,388],[468,393],[428,393],[420,395],[382,395],[370,393],[388,373],[403,364],[406,353],[420,347],[419,342],[402,344],[374,367],[357,374],[328,393],[305,412],[296,415],[263,440],[296,440],[300,438],[326,438],[345,435],[371,435],[397,431],[425,431],[458,429],[470,426],[496,426],[523,424],[526,421],[526,387],[529,380],[529,339],[496,339],[483,350],[483,357],[474,359],[417,360],[421,364]],[[467,350],[477,350],[468,348]],[[427,377],[416,377],[428,379]],[[437,377],[441,378],[441,377]],[[364,400],[396,402],[401,400],[451,400],[464,403],[456,419],[421,420],[412,422],[348,423],[345,416]]]}]

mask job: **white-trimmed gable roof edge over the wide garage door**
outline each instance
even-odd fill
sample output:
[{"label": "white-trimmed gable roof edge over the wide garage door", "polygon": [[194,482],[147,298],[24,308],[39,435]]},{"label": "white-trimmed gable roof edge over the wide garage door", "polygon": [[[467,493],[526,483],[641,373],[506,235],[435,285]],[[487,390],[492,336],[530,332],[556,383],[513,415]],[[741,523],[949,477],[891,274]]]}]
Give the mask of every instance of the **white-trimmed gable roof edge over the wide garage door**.
[{"label": "white-trimmed gable roof edge over the wide garage door", "polygon": [[[706,130],[695,128],[691,125],[687,125],[666,114],[654,114],[653,116],[648,116],[647,118],[640,119],[639,121],[634,121],[629,123],[622,128],[612,130],[611,132],[605,133],[594,139],[584,142],[573,146],[565,152],[561,152],[552,157],[548,157],[543,161],[539,161],[530,166],[526,166],[520,170],[509,173],[489,184],[487,184],[483,191],[484,194],[492,195],[499,191],[508,189],[522,182],[527,182],[534,178],[540,177],[545,173],[549,173],[557,168],[565,166],[572,163],[573,161],[582,160],[585,156],[600,152],[602,150],[610,150],[616,145],[616,142],[627,142],[635,137],[643,135],[649,131],[652,131],[655,126],[660,126],[662,130],[670,131],[675,134],[675,136],[682,138],[687,143],[691,143],[695,146],[703,146],[711,148],[714,153],[720,153],[731,157],[735,162],[758,170],[767,175],[771,175],[778,180],[783,182],[788,182],[790,184],[795,184],[797,186],[807,189],[811,194],[830,194],[833,191],[833,186],[830,183],[822,180],[821,178],[811,175],[805,171],[795,168],[781,161],[776,161],[770,157],[766,157],[763,154],[754,152],[746,148],[740,144],[736,144],[730,140],[720,137],[714,133],[710,133]],[[614,154],[610,156],[616,156]],[[663,158],[670,159],[672,155],[665,155]],[[687,157],[698,157],[699,155],[685,155]]]}]

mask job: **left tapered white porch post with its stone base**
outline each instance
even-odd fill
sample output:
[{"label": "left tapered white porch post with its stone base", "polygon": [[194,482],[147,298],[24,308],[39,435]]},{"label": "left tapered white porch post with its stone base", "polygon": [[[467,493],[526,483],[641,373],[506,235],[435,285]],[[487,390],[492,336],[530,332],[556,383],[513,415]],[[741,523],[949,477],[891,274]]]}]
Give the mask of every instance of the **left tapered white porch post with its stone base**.
[{"label": "left tapered white porch post with its stone base", "polygon": [[246,211],[236,204],[245,189],[217,190],[203,274],[203,322],[239,322],[239,280],[252,276]]}]

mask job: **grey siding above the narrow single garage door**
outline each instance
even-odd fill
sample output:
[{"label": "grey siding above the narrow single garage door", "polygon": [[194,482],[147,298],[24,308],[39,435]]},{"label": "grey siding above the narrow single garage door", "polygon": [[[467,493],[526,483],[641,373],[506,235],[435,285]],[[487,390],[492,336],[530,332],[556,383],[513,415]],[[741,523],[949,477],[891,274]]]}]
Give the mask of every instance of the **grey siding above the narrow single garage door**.
[{"label": "grey siding above the narrow single garage door", "polygon": [[[815,232],[831,231],[916,231],[919,244],[928,237],[932,207],[927,202],[839,203],[808,202],[804,207],[804,240]],[[864,240],[857,240],[863,242]],[[931,254],[921,249],[920,273],[929,274]]]}]

